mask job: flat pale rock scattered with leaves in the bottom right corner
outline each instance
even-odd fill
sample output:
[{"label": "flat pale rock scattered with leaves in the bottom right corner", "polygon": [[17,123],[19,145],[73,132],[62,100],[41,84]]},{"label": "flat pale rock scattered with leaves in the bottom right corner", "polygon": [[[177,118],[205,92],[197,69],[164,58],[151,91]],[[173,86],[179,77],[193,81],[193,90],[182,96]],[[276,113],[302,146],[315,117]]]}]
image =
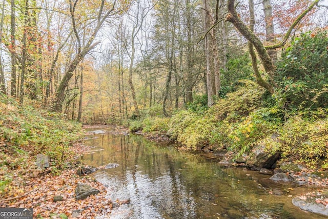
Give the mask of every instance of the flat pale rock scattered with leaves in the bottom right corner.
[{"label": "flat pale rock scattered with leaves in the bottom right corner", "polygon": [[[328,192],[325,190],[323,193],[327,194]],[[299,195],[293,198],[292,203],[304,211],[328,216],[328,208],[320,202],[323,196],[321,192]]]}]

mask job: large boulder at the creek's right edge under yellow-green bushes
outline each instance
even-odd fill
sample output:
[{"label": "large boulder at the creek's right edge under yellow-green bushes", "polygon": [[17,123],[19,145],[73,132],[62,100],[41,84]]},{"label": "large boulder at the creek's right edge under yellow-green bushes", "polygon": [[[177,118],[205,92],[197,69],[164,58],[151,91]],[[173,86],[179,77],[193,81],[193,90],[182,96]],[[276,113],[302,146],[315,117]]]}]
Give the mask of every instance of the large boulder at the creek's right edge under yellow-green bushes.
[{"label": "large boulder at the creek's right edge under yellow-green bushes", "polygon": [[[278,135],[272,135],[271,138],[273,141],[278,141]],[[246,164],[254,170],[259,170],[261,168],[272,169],[275,167],[279,158],[280,152],[276,152],[272,155],[265,151],[264,145],[258,145],[250,153]]]}]

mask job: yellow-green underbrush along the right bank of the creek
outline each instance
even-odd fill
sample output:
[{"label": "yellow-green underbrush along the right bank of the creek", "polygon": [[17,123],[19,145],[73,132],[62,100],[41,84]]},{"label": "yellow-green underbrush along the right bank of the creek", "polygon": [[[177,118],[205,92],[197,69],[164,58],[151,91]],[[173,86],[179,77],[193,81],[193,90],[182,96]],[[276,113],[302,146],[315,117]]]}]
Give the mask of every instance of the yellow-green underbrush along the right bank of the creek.
[{"label": "yellow-green underbrush along the right bank of the creek", "polygon": [[[236,157],[264,145],[269,153],[281,152],[282,160],[308,168],[328,169],[327,111],[285,111],[271,104],[254,82],[239,82],[213,107],[177,111],[170,119],[146,117],[131,130],[166,133],[189,149],[226,148]],[[273,137],[276,136],[276,137]]]}]

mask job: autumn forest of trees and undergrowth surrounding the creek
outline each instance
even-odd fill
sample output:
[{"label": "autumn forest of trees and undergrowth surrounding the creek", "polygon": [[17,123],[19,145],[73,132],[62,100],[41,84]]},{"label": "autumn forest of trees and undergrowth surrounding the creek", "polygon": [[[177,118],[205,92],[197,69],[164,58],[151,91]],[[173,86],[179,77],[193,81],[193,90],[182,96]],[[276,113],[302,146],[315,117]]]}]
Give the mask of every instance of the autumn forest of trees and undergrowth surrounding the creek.
[{"label": "autumn forest of trees and undergrowth surrounding the creek", "polygon": [[328,171],[326,0],[0,2],[0,207],[70,175],[83,125]]}]

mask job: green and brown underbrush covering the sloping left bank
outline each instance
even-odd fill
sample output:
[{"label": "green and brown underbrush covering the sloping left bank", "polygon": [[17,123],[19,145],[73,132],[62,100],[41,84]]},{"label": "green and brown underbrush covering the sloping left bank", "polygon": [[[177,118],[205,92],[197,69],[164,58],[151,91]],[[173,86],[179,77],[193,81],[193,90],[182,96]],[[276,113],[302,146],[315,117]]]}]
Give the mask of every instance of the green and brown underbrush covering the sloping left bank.
[{"label": "green and brown underbrush covering the sloping left bank", "polygon": [[53,172],[63,169],[74,155],[68,147],[82,133],[80,124],[61,120],[60,114],[22,107],[0,95],[0,193],[35,167],[36,154],[50,157]]}]

